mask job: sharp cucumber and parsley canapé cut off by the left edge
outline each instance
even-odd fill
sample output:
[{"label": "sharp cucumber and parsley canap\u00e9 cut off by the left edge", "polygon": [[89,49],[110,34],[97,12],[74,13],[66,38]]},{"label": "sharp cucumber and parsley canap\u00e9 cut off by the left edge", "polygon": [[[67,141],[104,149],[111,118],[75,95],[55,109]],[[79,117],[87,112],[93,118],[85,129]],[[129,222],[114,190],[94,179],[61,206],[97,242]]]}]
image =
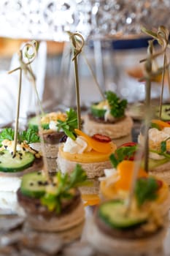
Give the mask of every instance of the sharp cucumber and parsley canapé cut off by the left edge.
[{"label": "sharp cucumber and parsley canap\u00e9 cut off by the left edge", "polygon": [[39,136],[28,128],[27,131],[18,133],[16,153],[13,154],[14,130],[12,128],[2,130],[0,133],[1,191],[16,191],[20,185],[20,177],[23,174],[41,170],[43,166],[41,154],[31,148],[31,144],[37,142],[39,142]]}]

